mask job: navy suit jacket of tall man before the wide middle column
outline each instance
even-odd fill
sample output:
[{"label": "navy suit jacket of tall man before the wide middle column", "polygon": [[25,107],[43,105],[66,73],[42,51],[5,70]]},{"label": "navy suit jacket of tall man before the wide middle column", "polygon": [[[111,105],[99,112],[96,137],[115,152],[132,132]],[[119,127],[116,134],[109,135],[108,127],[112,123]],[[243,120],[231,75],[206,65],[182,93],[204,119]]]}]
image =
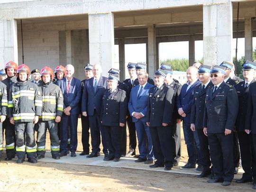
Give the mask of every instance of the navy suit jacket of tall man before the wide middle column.
[{"label": "navy suit jacket of tall man before the wide middle column", "polygon": [[107,89],[107,77],[101,76],[98,82],[98,87],[94,93],[93,77],[86,80],[82,93],[82,112],[87,112],[92,116],[94,109],[98,115],[101,115],[102,97]]}]

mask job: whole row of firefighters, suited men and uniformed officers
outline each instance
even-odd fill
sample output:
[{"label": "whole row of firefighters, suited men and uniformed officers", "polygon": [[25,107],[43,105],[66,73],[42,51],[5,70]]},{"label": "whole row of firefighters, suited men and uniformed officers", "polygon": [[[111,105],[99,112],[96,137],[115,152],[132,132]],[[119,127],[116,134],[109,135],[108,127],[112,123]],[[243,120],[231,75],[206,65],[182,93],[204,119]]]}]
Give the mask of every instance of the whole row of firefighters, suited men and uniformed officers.
[{"label": "whole row of firefighters, suited men and uniformed officers", "polygon": [[73,77],[72,65],[60,65],[54,71],[50,67],[34,69],[29,80],[27,65],[9,61],[3,71],[7,78],[0,82],[5,160],[15,154],[17,163],[23,163],[26,154],[31,163],[44,158],[47,129],[54,159],[69,152],[76,157],[81,118],[81,156],[100,156],[102,143],[104,161],[135,156],[136,163],[171,170],[181,156],[182,122],[189,159],[180,169],[195,169],[201,173],[198,177],[210,175],[208,183],[227,186],[238,172],[241,153],[245,173],[236,182],[254,181],[256,189],[256,62],[243,64],[244,81],[234,75],[231,62],[212,67],[194,63],[188,67],[183,85],[173,78],[172,67],[167,64],[155,71],[154,80],[144,63],[128,63],[127,69],[130,78],[123,82],[118,69],[111,68],[108,77],[102,76],[99,64],[86,65],[82,81]]}]

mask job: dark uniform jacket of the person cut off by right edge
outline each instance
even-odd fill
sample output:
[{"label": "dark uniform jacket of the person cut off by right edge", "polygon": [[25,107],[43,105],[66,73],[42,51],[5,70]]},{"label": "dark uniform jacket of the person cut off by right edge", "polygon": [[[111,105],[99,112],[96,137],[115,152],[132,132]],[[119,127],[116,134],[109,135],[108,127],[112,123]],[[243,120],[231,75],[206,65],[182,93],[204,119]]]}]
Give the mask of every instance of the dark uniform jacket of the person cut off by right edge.
[{"label": "dark uniform jacket of the person cut off by right edge", "polygon": [[250,83],[248,92],[247,115],[245,129],[249,129],[256,134],[256,82]]}]

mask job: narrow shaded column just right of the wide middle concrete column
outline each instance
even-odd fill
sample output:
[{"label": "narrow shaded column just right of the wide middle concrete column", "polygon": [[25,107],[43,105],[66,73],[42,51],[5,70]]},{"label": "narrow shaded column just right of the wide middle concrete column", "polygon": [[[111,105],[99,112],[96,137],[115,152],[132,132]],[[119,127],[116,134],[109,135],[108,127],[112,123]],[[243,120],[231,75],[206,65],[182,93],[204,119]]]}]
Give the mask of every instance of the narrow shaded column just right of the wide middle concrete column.
[{"label": "narrow shaded column just right of the wide middle concrete column", "polygon": [[123,81],[125,79],[125,43],[124,39],[118,40],[118,46],[119,46],[119,69],[120,69],[120,81]]}]

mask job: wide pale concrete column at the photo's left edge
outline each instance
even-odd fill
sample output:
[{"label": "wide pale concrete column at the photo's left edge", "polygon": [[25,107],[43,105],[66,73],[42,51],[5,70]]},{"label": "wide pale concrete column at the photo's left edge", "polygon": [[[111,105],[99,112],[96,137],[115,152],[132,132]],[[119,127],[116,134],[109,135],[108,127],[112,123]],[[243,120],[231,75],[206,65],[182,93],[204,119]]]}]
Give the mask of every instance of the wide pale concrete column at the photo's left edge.
[{"label": "wide pale concrete column at the photo's left edge", "polygon": [[[18,63],[17,21],[0,20],[0,68],[9,61]],[[25,60],[26,61],[26,60]]]}]

